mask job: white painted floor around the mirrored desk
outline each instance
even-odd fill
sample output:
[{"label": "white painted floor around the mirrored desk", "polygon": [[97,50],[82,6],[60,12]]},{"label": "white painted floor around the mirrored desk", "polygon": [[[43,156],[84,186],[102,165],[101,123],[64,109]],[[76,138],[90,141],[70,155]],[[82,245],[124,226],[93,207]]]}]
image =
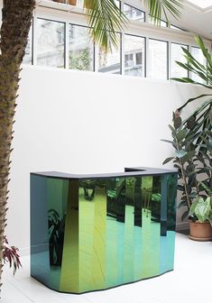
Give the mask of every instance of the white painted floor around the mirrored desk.
[{"label": "white painted floor around the mirrored desk", "polygon": [[23,270],[14,277],[4,269],[3,303],[211,303],[212,243],[198,243],[177,234],[175,270],[158,278],[90,292],[84,295],[60,294],[45,288],[29,276],[29,258],[23,257]]}]

